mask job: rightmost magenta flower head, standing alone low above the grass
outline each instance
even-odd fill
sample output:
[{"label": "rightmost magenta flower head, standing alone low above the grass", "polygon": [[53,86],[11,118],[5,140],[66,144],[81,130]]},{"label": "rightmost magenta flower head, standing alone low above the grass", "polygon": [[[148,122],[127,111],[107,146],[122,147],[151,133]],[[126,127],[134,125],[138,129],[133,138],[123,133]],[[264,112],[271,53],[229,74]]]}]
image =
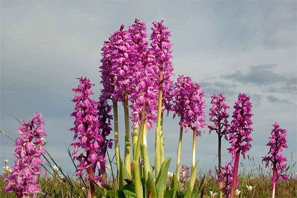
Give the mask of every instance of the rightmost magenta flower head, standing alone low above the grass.
[{"label": "rightmost magenta flower head, standing alone low above the grass", "polygon": [[[287,130],[281,129],[280,125],[275,122],[272,125],[274,128],[271,130],[271,137],[269,138],[269,143],[266,146],[269,146],[268,156],[262,157],[262,161],[266,161],[265,167],[268,166],[269,162],[271,161],[273,164],[273,168],[276,168],[276,181],[279,177],[283,179],[288,179],[288,175],[281,175],[281,171],[285,171],[286,165],[285,162],[287,161],[286,157],[283,157],[283,148],[288,148],[286,136]],[[273,169],[272,168],[272,169]],[[276,182],[275,181],[275,182]]]}]

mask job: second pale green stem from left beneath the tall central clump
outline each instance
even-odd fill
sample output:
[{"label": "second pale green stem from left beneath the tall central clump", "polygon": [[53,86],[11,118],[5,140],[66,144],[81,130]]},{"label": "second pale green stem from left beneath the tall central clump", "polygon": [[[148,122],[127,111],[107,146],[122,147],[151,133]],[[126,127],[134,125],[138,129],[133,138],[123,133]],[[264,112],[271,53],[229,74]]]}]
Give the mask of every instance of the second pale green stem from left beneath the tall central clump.
[{"label": "second pale green stem from left beneath the tall central clump", "polygon": [[125,115],[125,158],[124,164],[127,168],[129,175],[131,176],[131,144],[130,144],[130,126],[129,126],[129,106],[128,106],[128,95],[125,95],[124,99],[124,115]]}]

